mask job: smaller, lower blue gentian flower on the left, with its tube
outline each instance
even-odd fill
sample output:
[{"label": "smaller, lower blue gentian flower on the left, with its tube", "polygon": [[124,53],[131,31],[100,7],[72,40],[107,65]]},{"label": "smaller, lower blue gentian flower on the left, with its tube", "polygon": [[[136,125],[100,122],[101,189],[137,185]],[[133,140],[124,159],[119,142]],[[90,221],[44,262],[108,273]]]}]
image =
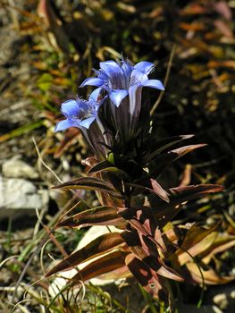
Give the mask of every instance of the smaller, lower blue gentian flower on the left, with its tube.
[{"label": "smaller, lower blue gentian flower on the left, with its tube", "polygon": [[104,159],[107,154],[106,146],[110,145],[105,128],[98,117],[99,106],[105,101],[105,97],[98,101],[101,89],[95,89],[88,100],[76,99],[63,102],[61,111],[66,117],[55,126],[55,131],[63,131],[70,127],[78,127],[87,140],[93,153],[100,159]]}]

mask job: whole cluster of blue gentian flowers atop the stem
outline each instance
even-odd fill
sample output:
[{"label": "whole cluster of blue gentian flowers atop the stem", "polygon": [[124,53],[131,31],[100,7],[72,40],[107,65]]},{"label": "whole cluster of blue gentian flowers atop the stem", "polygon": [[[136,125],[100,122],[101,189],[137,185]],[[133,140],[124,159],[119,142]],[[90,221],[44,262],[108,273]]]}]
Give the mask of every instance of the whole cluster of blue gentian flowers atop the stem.
[{"label": "whole cluster of blue gentian flowers atop the stem", "polygon": [[[118,141],[128,144],[146,125],[140,123],[140,115],[145,112],[142,101],[143,87],[164,90],[160,80],[149,80],[148,74],[154,64],[139,62],[131,65],[106,61],[95,70],[96,77],[83,81],[80,87],[95,86],[88,100],[68,100],[62,105],[66,120],[59,122],[55,131],[78,127],[89,147],[98,159],[104,159],[108,147]],[[149,110],[148,110],[149,111]],[[146,119],[145,119],[146,121]],[[147,128],[149,128],[149,121]]]}]

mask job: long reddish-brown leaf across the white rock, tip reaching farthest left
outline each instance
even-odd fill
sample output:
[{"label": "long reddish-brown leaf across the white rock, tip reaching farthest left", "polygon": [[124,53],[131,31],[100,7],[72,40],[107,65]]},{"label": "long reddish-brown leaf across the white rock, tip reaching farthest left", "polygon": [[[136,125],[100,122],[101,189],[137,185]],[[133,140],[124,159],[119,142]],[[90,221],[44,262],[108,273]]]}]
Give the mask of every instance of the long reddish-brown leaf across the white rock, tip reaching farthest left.
[{"label": "long reddish-brown leaf across the white rock, tip reaching farthest left", "polygon": [[104,235],[99,236],[95,241],[88,243],[86,247],[73,252],[69,257],[64,258],[63,261],[46,273],[46,277],[67,270],[71,267],[78,266],[80,263],[87,261],[90,258],[96,258],[100,254],[108,252],[122,243],[123,240],[120,233],[105,233]]}]

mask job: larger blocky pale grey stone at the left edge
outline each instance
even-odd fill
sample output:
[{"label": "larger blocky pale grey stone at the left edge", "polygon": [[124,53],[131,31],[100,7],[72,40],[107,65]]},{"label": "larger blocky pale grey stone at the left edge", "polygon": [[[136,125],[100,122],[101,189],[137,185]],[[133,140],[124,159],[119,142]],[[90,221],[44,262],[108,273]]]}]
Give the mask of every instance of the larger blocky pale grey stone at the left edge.
[{"label": "larger blocky pale grey stone at the left edge", "polygon": [[0,175],[0,218],[24,215],[29,211],[35,214],[35,209],[46,208],[48,201],[47,190],[38,190],[24,179]]}]

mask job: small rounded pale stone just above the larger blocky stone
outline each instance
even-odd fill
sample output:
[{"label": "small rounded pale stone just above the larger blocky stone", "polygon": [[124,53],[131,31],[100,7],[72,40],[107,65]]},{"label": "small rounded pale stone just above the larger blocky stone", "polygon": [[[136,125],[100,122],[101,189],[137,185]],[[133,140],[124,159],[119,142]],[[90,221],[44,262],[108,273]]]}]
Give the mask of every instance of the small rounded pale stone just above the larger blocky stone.
[{"label": "small rounded pale stone just above the larger blocky stone", "polygon": [[13,157],[3,164],[4,177],[37,179],[38,173],[27,163]]}]

